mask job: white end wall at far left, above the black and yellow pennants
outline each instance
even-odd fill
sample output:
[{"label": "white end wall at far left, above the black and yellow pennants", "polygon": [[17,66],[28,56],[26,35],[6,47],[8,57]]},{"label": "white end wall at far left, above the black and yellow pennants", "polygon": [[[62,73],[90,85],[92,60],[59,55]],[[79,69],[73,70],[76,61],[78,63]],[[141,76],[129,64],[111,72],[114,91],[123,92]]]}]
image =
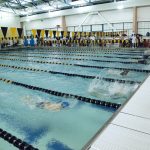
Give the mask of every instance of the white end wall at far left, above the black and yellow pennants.
[{"label": "white end wall at far left, above the black and yellow pennants", "polygon": [[20,17],[15,16],[12,13],[6,13],[0,11],[0,27],[21,27]]}]

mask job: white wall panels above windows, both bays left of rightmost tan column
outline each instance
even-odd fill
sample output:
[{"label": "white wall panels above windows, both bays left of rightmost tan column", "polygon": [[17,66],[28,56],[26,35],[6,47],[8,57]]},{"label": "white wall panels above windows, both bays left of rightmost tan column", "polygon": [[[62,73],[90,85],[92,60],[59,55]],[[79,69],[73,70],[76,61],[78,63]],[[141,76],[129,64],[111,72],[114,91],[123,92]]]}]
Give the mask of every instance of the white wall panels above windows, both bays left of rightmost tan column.
[{"label": "white wall panels above windows, both bays left of rightmost tan column", "polygon": [[[119,22],[132,22],[133,13],[132,9],[123,9],[123,10],[112,10],[112,11],[104,11],[101,12],[103,17],[108,22],[111,23],[119,23]],[[70,15],[66,16],[66,26],[78,26],[82,23],[86,14],[78,14],[78,15]],[[102,17],[98,15],[90,15],[85,21],[84,25],[92,25],[92,24],[104,24],[107,23],[104,21]],[[26,26],[26,30],[31,29],[46,29],[46,28],[55,28],[56,25],[62,25],[62,18],[55,17],[43,20],[33,20],[24,23]]]}]

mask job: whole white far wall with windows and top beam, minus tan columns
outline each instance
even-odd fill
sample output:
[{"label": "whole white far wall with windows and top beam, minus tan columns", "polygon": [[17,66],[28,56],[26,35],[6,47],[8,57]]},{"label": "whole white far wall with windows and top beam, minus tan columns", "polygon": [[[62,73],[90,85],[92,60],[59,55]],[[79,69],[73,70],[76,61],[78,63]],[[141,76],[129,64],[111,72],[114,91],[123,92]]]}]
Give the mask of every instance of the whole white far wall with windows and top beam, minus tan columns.
[{"label": "whole white far wall with windows and top beam, minus tan columns", "polygon": [[[56,12],[50,12],[49,14],[34,15],[29,17],[31,20],[27,22],[27,17],[21,18],[21,22],[27,31],[31,29],[53,29],[56,30],[56,25],[62,25],[62,17],[66,18],[66,26],[68,26],[69,31],[77,31],[78,25],[80,25],[84,18],[89,12],[100,11],[103,17],[98,15],[90,15],[84,22],[84,26],[80,27],[78,31],[102,31],[102,26],[104,25],[104,31],[111,32],[112,28],[107,26],[107,22],[112,23],[112,25],[117,29],[117,31],[123,29],[130,35],[132,33],[132,23],[133,23],[133,7],[137,6],[137,20],[138,20],[138,32],[145,35],[147,31],[150,32],[150,1],[149,0],[128,0],[121,2],[124,4],[125,9],[118,10],[115,3],[93,5],[88,7],[74,8],[70,10],[61,10]],[[117,4],[119,4],[117,2]],[[41,21],[39,18],[45,18]],[[146,22],[145,22],[146,21]],[[92,25],[92,26],[90,26]],[[145,29],[143,29],[145,28]],[[61,29],[59,29],[61,30]]]}]

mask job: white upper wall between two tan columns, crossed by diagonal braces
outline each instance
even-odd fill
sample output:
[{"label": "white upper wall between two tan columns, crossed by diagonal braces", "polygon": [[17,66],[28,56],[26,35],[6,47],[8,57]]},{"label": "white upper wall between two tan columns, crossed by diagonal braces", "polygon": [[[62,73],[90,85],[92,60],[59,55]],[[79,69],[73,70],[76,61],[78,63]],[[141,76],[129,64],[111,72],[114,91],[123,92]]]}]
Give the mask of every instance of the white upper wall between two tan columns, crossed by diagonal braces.
[{"label": "white upper wall between two tan columns, crossed by diagonal braces", "polygon": [[[102,16],[110,23],[117,22],[132,22],[133,13],[132,9],[123,9],[123,10],[112,10],[112,11],[104,11],[101,12]],[[79,15],[71,15],[66,16],[66,24],[67,26],[79,25],[82,23],[83,19],[87,14],[79,14]],[[85,21],[84,25],[91,24],[104,24],[107,23],[103,20],[102,17],[98,15],[90,15]]]}]

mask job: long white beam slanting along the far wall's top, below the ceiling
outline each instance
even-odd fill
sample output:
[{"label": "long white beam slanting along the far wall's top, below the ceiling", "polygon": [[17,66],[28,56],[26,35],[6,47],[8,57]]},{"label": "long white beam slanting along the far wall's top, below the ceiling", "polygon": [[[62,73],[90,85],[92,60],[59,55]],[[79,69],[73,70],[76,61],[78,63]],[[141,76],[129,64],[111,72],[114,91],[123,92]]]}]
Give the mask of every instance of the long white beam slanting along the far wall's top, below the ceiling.
[{"label": "long white beam slanting along the far wall's top, below the ceiling", "polygon": [[[136,3],[133,2],[134,0],[128,1],[121,1],[117,2],[118,5],[123,4],[124,9],[126,8],[133,8],[133,7],[141,7],[141,6],[150,6],[150,0],[136,0]],[[110,10],[117,10],[118,5],[116,3],[107,3],[107,4],[99,4],[99,5],[91,5],[85,7],[78,7],[74,9],[66,9],[60,11],[54,11],[50,14],[38,14],[30,16],[30,20],[38,20],[38,19],[47,19],[53,17],[60,17],[60,16],[67,16],[67,15],[77,15],[77,14],[84,14],[89,12],[97,12],[97,11],[110,11]],[[27,17],[22,17],[21,22],[27,20]]]}]

